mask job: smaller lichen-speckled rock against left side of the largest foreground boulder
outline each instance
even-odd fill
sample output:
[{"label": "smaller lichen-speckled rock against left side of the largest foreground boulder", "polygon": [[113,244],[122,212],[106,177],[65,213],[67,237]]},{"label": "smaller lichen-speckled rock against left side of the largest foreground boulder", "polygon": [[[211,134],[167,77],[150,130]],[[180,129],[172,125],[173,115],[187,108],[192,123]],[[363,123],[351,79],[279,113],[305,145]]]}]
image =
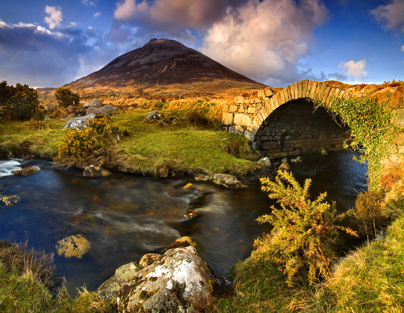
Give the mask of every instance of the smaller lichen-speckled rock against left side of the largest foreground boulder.
[{"label": "smaller lichen-speckled rock against left side of the largest foreground boulder", "polygon": [[140,271],[143,267],[134,262],[125,264],[115,271],[115,275],[106,280],[99,288],[97,289],[97,293],[106,298],[108,301],[112,301],[118,296],[119,288],[125,280],[129,277],[136,274],[136,272]]}]

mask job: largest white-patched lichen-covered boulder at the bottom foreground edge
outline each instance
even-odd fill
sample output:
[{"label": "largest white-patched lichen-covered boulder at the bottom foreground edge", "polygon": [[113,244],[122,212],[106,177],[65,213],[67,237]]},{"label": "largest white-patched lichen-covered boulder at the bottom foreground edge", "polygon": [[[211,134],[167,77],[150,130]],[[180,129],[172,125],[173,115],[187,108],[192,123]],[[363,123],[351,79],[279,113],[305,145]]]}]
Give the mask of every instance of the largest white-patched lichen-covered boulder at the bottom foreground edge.
[{"label": "largest white-patched lichen-covered boulder at the bottom foreground edge", "polygon": [[218,282],[192,246],[170,249],[127,279],[119,312],[208,312]]}]

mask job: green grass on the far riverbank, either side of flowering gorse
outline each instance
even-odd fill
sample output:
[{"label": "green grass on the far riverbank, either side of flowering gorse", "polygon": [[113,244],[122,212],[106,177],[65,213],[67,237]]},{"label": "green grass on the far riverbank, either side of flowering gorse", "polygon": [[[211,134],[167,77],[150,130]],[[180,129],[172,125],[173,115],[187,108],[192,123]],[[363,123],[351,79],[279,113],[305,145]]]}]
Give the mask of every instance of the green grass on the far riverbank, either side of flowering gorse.
[{"label": "green grass on the far riverbank, either side of flowering gorse", "polygon": [[[113,125],[129,136],[118,143],[116,153],[105,167],[144,175],[162,176],[161,173],[185,174],[227,173],[244,175],[255,170],[251,150],[243,149],[238,157],[228,154],[223,147],[234,135],[223,132],[211,121],[210,125],[193,126],[187,110],[162,111],[165,120],[176,117],[178,125],[160,127],[157,122],[147,123],[144,116],[149,110],[132,110],[112,116]],[[43,158],[53,158],[59,138],[68,132],[62,130],[66,121],[47,121],[49,128],[35,130],[28,122],[2,121],[0,123],[0,155],[20,157],[22,152]],[[12,153],[12,154],[10,154]]]}]

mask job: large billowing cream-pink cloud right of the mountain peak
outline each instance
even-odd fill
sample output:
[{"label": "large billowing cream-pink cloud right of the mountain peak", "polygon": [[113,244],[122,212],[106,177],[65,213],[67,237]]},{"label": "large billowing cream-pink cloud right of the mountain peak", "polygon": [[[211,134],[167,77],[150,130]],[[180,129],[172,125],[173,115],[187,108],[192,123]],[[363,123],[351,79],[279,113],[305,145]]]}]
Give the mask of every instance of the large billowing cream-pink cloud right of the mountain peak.
[{"label": "large billowing cream-pink cloud right of the mountain peak", "polygon": [[261,82],[293,82],[315,41],[313,29],[327,18],[317,0],[248,0],[208,29],[201,51]]}]

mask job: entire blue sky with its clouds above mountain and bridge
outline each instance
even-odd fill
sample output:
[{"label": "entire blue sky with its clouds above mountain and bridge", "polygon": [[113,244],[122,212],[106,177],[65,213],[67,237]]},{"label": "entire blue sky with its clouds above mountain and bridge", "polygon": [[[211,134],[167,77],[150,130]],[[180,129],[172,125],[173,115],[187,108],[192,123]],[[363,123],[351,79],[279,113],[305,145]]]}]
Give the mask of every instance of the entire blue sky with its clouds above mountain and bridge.
[{"label": "entire blue sky with its clouds above mountain and bridge", "polygon": [[0,80],[58,87],[152,38],[274,87],[404,80],[404,0],[3,0]]}]

